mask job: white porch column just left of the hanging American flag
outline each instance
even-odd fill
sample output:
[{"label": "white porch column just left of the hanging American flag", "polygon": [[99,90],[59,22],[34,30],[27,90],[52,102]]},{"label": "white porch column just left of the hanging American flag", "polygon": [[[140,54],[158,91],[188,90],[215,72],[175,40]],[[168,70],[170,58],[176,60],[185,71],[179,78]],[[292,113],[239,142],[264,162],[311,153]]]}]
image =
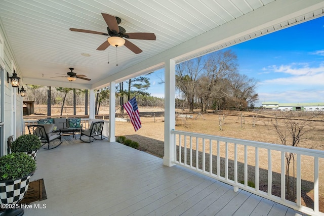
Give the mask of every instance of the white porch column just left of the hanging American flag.
[{"label": "white porch column just left of the hanging American flag", "polygon": [[116,104],[116,82],[110,82],[110,94],[109,94],[109,138],[108,142],[115,142],[115,104]]}]

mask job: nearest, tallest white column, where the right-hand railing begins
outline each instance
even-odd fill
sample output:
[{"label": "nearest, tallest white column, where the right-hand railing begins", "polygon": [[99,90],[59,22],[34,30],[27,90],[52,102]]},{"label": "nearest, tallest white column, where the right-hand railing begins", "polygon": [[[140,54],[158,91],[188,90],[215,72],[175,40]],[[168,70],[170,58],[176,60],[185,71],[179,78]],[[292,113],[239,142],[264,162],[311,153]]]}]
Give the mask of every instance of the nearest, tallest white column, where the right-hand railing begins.
[{"label": "nearest, tallest white column, where the right-hand railing begins", "polygon": [[163,164],[173,166],[175,161],[175,140],[170,132],[175,129],[176,62],[169,60],[165,64],[165,122]]}]

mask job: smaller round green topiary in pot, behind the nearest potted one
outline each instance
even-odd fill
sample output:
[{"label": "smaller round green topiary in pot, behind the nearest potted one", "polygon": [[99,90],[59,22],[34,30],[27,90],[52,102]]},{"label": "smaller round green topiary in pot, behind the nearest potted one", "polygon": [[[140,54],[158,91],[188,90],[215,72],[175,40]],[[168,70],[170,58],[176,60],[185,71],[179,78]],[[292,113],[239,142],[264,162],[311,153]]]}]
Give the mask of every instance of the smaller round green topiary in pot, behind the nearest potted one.
[{"label": "smaller round green topiary in pot, behind the nearest potted one", "polygon": [[36,159],[37,151],[41,148],[42,142],[36,135],[24,134],[18,137],[11,144],[12,152],[25,152],[32,158]]}]

